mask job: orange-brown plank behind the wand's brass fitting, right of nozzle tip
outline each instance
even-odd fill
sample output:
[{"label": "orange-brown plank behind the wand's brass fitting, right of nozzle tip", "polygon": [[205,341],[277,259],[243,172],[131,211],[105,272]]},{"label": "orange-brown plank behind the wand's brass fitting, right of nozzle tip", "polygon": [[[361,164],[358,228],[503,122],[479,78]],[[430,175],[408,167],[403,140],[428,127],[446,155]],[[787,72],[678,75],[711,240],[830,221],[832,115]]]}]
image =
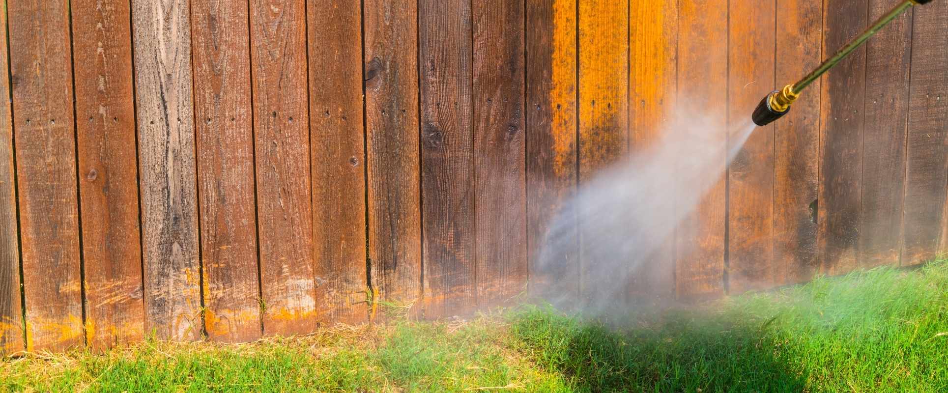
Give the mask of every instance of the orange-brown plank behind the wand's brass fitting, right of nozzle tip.
[{"label": "orange-brown plank behind the wand's brass fitting, right of nozzle tip", "polygon": [[[822,0],[777,1],[775,88],[793,83],[821,61]],[[816,205],[819,182],[820,80],[793,111],[774,123],[774,259],[777,284],[810,279],[818,270]]]}]

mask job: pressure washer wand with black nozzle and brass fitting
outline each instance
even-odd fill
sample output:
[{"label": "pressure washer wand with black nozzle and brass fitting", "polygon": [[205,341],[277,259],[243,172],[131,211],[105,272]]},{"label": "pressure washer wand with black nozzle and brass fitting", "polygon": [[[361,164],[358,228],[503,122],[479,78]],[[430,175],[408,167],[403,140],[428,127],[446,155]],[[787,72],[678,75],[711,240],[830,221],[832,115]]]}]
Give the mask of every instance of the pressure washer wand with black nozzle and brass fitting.
[{"label": "pressure washer wand with black nozzle and brass fitting", "polygon": [[818,80],[823,74],[830,70],[837,63],[846,59],[846,57],[852,53],[853,50],[856,50],[857,47],[866,43],[866,40],[869,37],[872,37],[876,32],[881,30],[885,25],[888,25],[889,22],[892,22],[893,19],[898,17],[912,6],[920,6],[922,4],[931,3],[932,0],[905,0],[902,4],[899,4],[894,9],[888,11],[882,18],[879,18],[876,23],[872,24],[865,32],[856,37],[854,40],[850,41],[849,44],[843,46],[842,49],[837,51],[830,59],[827,59],[825,62],[812,70],[810,74],[806,77],[803,77],[802,80],[788,84],[784,86],[782,90],[777,90],[767,95],[764,99],[757,104],[757,109],[754,110],[754,115],[751,116],[754,119],[754,123],[758,126],[766,126],[774,120],[787,115],[790,112],[790,106],[793,105],[793,101],[796,98],[800,97],[800,93],[803,92],[803,89],[806,89],[807,86],[813,82],[813,80]]}]

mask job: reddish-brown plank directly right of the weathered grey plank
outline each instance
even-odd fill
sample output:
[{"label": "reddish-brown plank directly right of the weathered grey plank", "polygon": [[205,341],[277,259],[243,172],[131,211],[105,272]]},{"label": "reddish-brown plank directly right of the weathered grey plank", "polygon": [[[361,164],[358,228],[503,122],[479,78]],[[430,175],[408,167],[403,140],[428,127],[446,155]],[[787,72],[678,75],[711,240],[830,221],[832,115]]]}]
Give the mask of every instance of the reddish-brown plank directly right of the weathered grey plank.
[{"label": "reddish-brown plank directly right of the weathered grey plank", "polygon": [[192,0],[194,126],[208,338],[260,337],[246,3]]}]

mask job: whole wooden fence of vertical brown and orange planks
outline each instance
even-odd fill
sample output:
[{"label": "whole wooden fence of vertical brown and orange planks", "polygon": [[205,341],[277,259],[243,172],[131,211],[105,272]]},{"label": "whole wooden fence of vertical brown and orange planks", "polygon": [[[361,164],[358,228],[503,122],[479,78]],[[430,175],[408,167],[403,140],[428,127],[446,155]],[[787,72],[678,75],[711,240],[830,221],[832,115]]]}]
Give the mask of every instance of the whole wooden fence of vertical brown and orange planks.
[{"label": "whole wooden fence of vertical brown and orange planks", "polygon": [[[499,304],[533,282],[557,206],[653,141],[676,99],[725,130],[896,2],[8,1],[0,347]],[[946,30],[948,2],[909,11],[757,130],[643,288],[934,256]],[[561,291],[584,285],[576,247]]]}]

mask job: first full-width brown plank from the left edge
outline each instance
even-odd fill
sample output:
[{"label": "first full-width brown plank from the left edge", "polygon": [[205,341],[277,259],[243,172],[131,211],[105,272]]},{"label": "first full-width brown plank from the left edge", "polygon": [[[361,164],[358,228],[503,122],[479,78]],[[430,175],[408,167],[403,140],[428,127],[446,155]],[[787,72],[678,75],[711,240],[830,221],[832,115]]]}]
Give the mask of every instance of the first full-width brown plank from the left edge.
[{"label": "first full-width brown plank from the left edge", "polygon": [[7,11],[27,350],[61,350],[83,344],[69,10],[17,1]]}]

